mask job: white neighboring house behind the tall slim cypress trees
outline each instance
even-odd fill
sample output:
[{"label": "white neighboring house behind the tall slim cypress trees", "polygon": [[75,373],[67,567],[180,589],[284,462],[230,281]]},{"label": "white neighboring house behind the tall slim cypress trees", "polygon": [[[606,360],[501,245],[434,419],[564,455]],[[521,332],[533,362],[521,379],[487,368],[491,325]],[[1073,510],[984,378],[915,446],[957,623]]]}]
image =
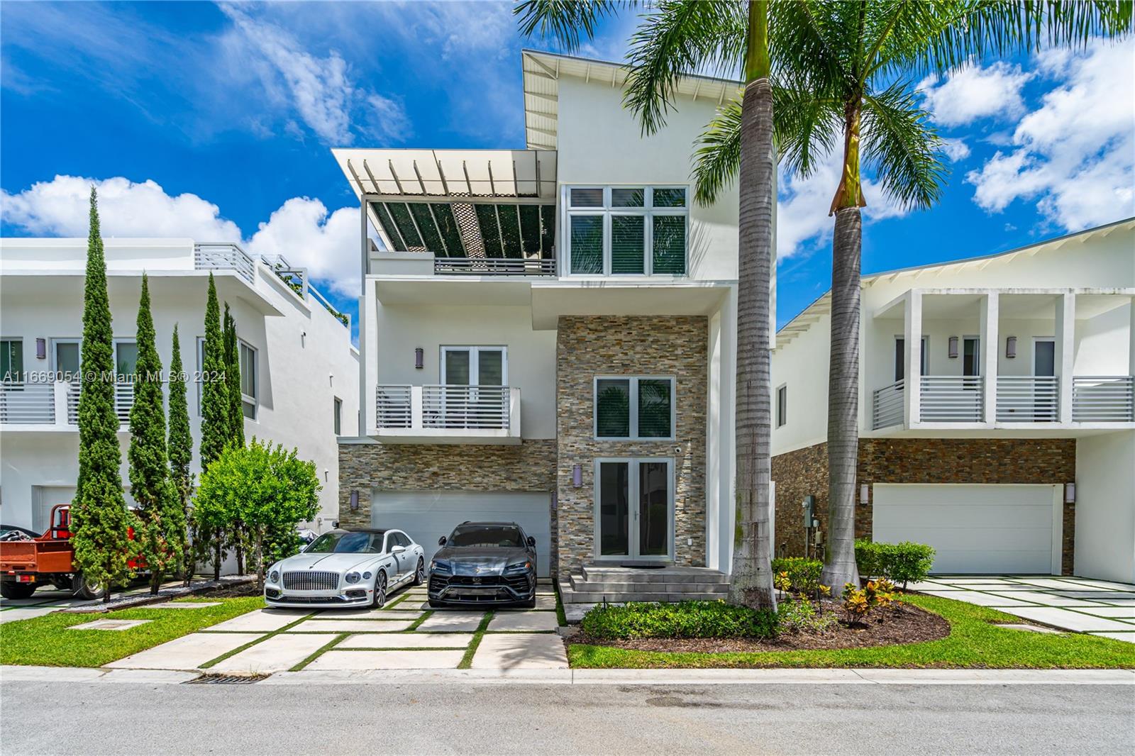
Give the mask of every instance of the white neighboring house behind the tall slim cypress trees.
[{"label": "white neighboring house behind the tall slim cypress trees", "polygon": [[[236,320],[245,437],[297,447],[300,456],[314,461],[322,490],[320,514],[311,526],[329,528],[338,510],[336,437],[353,436],[358,429],[359,353],[351,344],[350,325],[308,285],[304,270],[279,258],[263,260],[235,244],[188,238],[107,238],[104,245],[116,363],[124,375],[133,371],[137,358],[134,336],[144,271],[162,367],[169,370],[176,324],[183,367],[196,381],[208,277],[215,275],[221,308],[227,303]],[[5,524],[42,531],[51,507],[70,502],[75,492],[78,387],[54,379],[77,373],[81,364],[85,266],[85,238],[0,240]],[[117,410],[127,488],[132,397],[124,383]],[[199,474],[200,383],[188,386],[188,402],[193,471]]]}]

